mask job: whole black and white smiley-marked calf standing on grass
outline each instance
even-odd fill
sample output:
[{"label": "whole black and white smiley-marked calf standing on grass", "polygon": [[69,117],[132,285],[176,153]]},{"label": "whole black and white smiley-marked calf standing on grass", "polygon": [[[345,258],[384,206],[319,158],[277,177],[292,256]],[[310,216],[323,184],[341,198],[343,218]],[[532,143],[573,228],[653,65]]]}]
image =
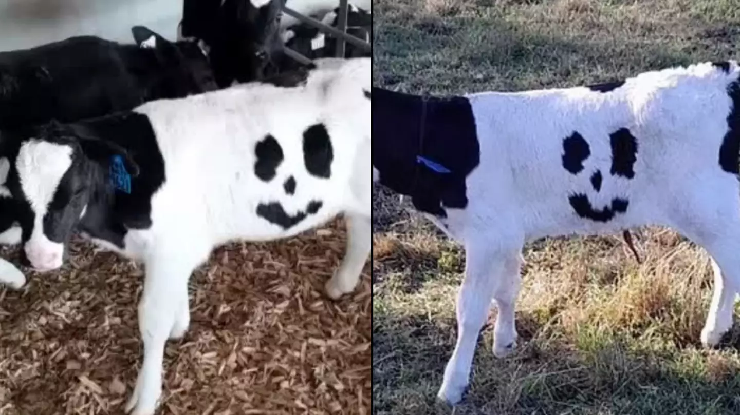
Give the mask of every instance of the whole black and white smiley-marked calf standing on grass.
[{"label": "whole black and white smiley-marked calf standing on grass", "polygon": [[373,181],[465,247],[440,399],[462,398],[492,298],[494,354],[514,350],[522,246],[543,236],[679,231],[713,258],[702,342],[719,342],[740,288],[739,77],[729,61],[448,99],[372,89]]}]

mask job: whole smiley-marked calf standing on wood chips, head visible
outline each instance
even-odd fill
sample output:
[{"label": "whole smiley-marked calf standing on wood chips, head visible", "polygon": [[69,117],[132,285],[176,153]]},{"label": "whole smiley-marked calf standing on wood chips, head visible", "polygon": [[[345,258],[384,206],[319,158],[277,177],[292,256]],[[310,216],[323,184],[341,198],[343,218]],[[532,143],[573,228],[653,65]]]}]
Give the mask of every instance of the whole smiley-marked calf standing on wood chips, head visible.
[{"label": "whole smiley-marked calf standing on wood chips, head visible", "polygon": [[347,252],[326,292],[354,289],[371,247],[370,87],[369,58],[333,61],[296,86],[246,83],[0,137],[33,267],[60,267],[75,227],[145,264],[127,411],[154,413],[166,340],[189,326],[189,276],[215,246],[343,213]]}]

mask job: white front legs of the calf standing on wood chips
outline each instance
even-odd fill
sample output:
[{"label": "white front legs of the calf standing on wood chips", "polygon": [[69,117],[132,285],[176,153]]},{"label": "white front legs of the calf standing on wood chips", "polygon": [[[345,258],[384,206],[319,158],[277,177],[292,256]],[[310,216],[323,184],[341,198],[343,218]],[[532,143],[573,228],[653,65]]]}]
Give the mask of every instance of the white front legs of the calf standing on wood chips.
[{"label": "white front legs of the calf standing on wood chips", "polygon": [[187,298],[187,281],[197,265],[197,262],[183,261],[183,258],[196,258],[189,254],[159,257],[152,255],[147,260],[144,290],[138,306],[144,360],[138,372],[136,386],[126,405],[126,412],[131,412],[132,415],[153,415],[162,394],[164,346],[167,337],[175,333],[178,324],[183,323],[183,299]]}]

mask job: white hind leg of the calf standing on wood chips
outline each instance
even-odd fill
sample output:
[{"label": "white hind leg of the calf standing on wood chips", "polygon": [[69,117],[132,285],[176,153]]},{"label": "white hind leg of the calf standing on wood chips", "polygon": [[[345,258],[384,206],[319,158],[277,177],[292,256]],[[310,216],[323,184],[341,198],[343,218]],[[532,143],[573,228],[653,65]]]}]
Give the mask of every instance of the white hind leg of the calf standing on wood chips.
[{"label": "white hind leg of the calf standing on wood chips", "polygon": [[340,298],[349,294],[357,287],[360,274],[370,256],[372,247],[372,226],[368,216],[346,214],[347,223],[347,250],[339,269],[332,278],[326,281],[326,295],[330,298]]}]

